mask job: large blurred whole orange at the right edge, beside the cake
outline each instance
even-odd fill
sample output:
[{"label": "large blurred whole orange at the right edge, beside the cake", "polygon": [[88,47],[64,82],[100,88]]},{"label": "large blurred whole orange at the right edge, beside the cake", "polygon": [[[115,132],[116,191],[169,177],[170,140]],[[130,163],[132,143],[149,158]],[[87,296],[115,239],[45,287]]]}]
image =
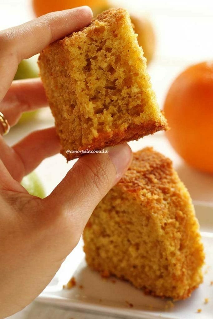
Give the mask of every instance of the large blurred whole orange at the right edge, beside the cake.
[{"label": "large blurred whole orange at the right edge, beside the cake", "polygon": [[174,149],[192,167],[213,173],[213,62],[190,66],[175,79],[164,113]]}]

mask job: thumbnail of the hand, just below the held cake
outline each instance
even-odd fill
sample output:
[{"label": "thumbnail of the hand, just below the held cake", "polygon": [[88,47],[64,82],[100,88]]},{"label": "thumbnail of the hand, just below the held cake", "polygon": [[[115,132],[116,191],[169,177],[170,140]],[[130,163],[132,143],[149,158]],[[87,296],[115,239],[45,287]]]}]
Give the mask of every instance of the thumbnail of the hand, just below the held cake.
[{"label": "thumbnail of the hand, just below the held cake", "polygon": [[110,147],[108,150],[108,155],[117,171],[117,182],[132,162],[132,150],[126,143]]}]

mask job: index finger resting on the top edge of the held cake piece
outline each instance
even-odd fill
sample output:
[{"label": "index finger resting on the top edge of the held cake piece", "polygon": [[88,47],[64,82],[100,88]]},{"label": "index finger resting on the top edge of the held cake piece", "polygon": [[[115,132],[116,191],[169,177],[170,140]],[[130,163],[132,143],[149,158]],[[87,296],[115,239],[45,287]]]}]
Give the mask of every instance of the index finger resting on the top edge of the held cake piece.
[{"label": "index finger resting on the top edge of the held cake piece", "polygon": [[0,32],[0,100],[9,89],[18,64],[49,43],[87,26],[92,11],[83,6],[46,14],[20,26]]}]

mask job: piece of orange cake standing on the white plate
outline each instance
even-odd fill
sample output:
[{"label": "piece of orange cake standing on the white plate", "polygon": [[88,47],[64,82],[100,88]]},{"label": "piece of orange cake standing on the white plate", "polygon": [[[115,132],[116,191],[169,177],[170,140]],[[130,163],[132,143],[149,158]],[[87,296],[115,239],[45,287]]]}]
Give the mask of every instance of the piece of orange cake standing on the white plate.
[{"label": "piece of orange cake standing on the white plate", "polygon": [[87,264],[154,296],[185,299],[202,283],[199,224],[170,159],[145,148],[97,205],[84,233]]}]

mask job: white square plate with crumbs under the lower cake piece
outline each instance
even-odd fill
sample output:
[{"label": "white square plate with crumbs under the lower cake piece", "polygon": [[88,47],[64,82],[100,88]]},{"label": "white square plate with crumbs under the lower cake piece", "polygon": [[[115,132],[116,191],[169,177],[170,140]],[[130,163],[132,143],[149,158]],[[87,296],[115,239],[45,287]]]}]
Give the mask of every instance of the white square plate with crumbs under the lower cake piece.
[{"label": "white square plate with crumbs under the lower cake piece", "polygon": [[[177,301],[174,307],[171,307],[168,300],[146,296],[143,291],[134,288],[128,282],[117,278],[101,278],[100,274],[87,267],[82,240],[37,300],[120,318],[212,318],[213,286],[210,283],[213,281],[213,206],[196,203],[195,210],[201,226],[206,265],[203,284],[187,300]],[[76,286],[69,290],[63,289],[63,285],[72,276],[76,279]],[[205,298],[208,298],[208,303],[205,303]],[[130,307],[130,304],[133,307]],[[202,311],[197,313],[198,309]]]}]

